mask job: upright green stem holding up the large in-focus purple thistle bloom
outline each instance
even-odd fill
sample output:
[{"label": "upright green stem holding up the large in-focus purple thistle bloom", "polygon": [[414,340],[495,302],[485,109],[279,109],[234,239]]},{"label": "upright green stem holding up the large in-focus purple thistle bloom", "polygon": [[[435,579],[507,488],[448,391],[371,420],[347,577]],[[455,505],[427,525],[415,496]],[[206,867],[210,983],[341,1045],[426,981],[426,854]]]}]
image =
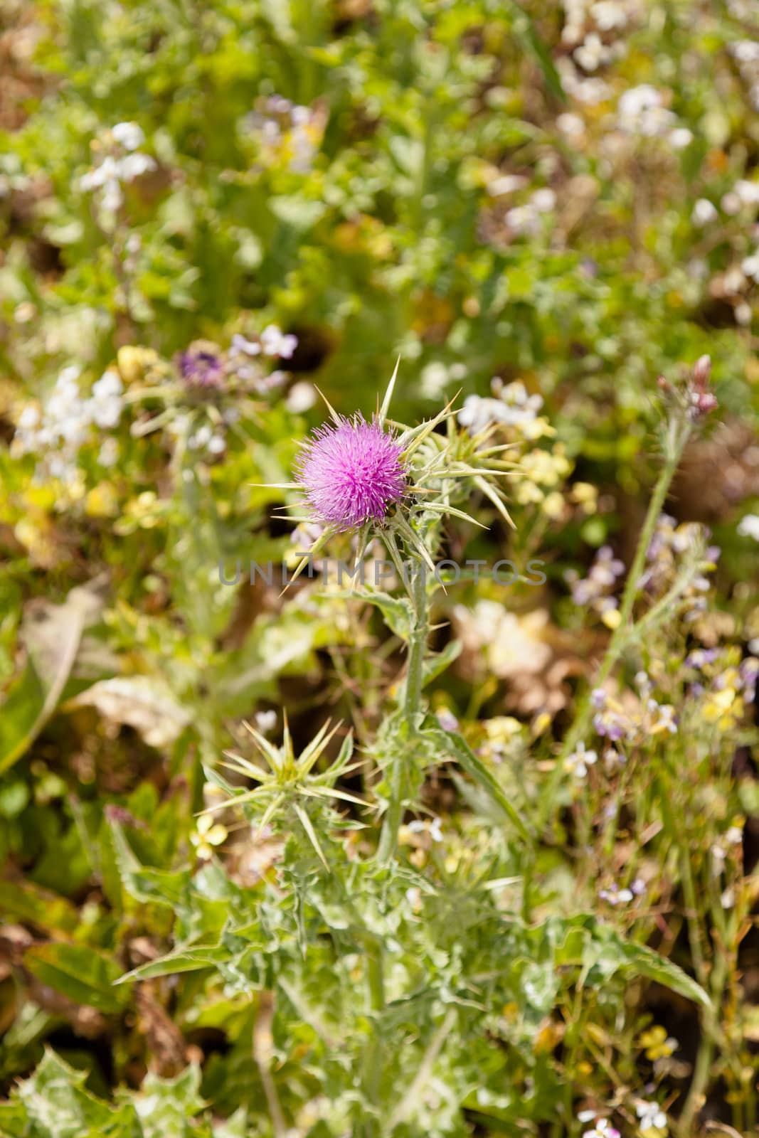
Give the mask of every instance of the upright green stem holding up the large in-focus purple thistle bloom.
[{"label": "upright green stem holding up the large in-focus purple thistle bloom", "polygon": [[414,627],[409,644],[409,670],[403,693],[402,745],[393,758],[390,770],[390,801],[385,814],[382,833],[380,835],[377,857],[380,861],[389,861],[398,842],[398,827],[403,818],[403,790],[405,784],[406,764],[411,754],[411,744],[418,732],[421,717],[422,677],[427,637],[429,634],[429,611],[427,607],[427,572],[421,562],[414,566],[413,600]]}]

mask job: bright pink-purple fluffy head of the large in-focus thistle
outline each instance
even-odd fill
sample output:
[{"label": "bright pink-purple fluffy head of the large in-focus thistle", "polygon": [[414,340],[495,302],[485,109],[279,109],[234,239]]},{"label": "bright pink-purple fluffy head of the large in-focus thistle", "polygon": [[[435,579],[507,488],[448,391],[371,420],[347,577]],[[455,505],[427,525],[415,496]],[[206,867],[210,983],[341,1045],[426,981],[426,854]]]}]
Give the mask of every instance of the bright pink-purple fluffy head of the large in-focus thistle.
[{"label": "bright pink-purple fluffy head of the large in-focus thistle", "polygon": [[402,446],[374,419],[338,418],[320,427],[296,461],[298,479],[314,517],[348,530],[382,521],[405,493]]}]

